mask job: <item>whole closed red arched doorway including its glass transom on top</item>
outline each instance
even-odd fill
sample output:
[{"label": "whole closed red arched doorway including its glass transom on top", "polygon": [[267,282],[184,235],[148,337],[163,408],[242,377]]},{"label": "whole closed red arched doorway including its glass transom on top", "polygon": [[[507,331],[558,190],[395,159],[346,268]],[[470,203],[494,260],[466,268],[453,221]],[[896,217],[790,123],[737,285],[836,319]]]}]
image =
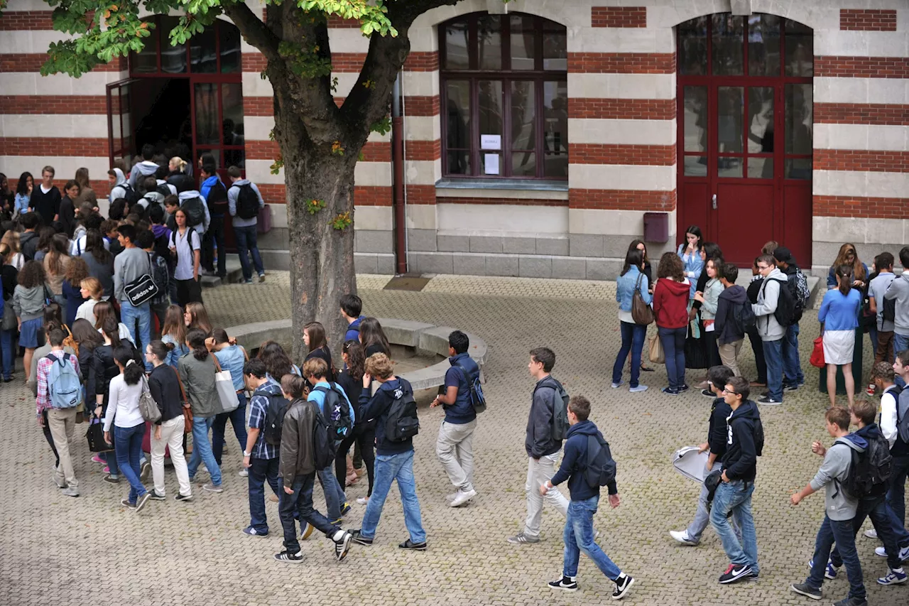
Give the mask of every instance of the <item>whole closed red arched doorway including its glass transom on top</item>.
[{"label": "whole closed red arched doorway including its glass transom on top", "polygon": [[678,26],[677,233],[750,267],[767,240],[811,265],[813,33],[775,15]]}]

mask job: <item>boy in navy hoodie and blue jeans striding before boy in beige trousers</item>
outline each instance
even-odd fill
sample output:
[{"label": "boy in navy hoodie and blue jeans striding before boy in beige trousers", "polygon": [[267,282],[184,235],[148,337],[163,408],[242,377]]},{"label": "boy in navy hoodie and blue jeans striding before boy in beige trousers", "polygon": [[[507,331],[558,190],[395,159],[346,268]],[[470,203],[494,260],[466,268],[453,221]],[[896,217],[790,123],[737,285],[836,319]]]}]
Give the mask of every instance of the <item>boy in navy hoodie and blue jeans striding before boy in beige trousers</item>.
[{"label": "boy in navy hoodie and blue jeans striding before boy in beige trousers", "polygon": [[571,502],[564,530],[564,566],[562,578],[549,583],[550,589],[577,591],[577,567],[581,552],[596,564],[604,575],[615,583],[613,600],[621,600],[631,586],[630,577],[610,560],[594,537],[594,513],[600,501],[600,487],[609,491],[609,506],[619,506],[619,493],[615,486],[615,461],[603,434],[590,420],[590,400],[574,396],[568,402],[568,429],[562,465],[552,480],[539,488],[545,496],[549,490],[568,480]]}]

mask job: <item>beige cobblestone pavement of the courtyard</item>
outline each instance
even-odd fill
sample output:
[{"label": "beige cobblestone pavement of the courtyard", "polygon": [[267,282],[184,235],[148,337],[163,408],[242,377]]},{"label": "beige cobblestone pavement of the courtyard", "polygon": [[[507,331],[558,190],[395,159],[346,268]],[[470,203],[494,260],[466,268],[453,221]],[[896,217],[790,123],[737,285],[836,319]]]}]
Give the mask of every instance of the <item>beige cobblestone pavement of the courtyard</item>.
[{"label": "beige cobblestone pavement of the courtyard", "polygon": [[[699,490],[673,470],[670,456],[675,449],[703,441],[710,400],[694,390],[678,398],[662,395],[663,367],[642,374],[642,382],[651,388],[644,393],[609,388],[619,344],[613,285],[439,277],[423,292],[404,292],[381,290],[386,280],[360,280],[367,314],[464,328],[483,336],[491,348],[485,367],[490,405],[480,417],[474,441],[479,497],[464,509],[445,506],[452,487],[434,448],[442,411],[420,409],[423,430],[415,439],[415,473],[429,550],[397,548],[406,533],[393,489],[374,546],[354,546],[348,559],[337,564],[331,543],[314,535],[303,543],[302,565],[272,561],[272,554],[282,549],[275,503],[267,504],[271,535],[251,538],[240,531],[249,513],[246,480],[236,475],[240,449],[235,441],[228,441],[225,452],[223,494],[196,488],[193,502],[175,502],[176,480],[168,470],[169,500],[150,501],[134,514],[120,507],[124,485],[102,482],[101,466],[89,461],[80,437],[75,469],[82,496],[61,496],[51,477],[52,455],[35,426],[34,399],[26,398],[20,370],[15,383],[0,387],[10,423],[0,443],[5,479],[0,497],[0,588],[5,597],[0,601],[194,606],[604,603],[612,583],[585,559],[581,591],[555,594],[546,588],[545,582],[562,570],[563,520],[553,510],[544,510],[539,544],[515,546],[504,540],[520,530],[524,519],[524,426],[532,389],[527,351],[548,345],[557,355],[554,375],[570,393],[593,400],[593,419],[618,461],[622,506],[610,510],[601,503],[595,524],[603,532],[604,550],[638,579],[625,601],[678,606],[809,603],[788,587],[807,573],[824,497],[815,495],[793,508],[788,496],[812,478],[820,462],[810,452],[811,441],[830,442],[823,426],[827,398],[817,390],[817,370],[807,363],[817,335],[813,316],[806,315],[802,322],[807,387],[787,393],[783,406],[761,409],[766,446],[754,493],[761,580],[723,587],[716,579],[727,561],[713,530],[706,530],[697,548],[680,547],[668,535],[690,521]],[[286,275],[275,272],[264,285],[206,290],[205,300],[219,326],[285,318],[287,284]],[[865,344],[868,369],[870,348]],[[744,350],[744,369],[754,372],[751,352]],[[694,382],[697,374],[689,371],[688,381]],[[85,425],[77,427],[77,434],[85,431]],[[200,480],[206,480],[201,475]],[[348,495],[354,500],[365,490],[358,484]],[[321,508],[321,491],[316,494]],[[365,508],[353,507],[345,526],[357,528]],[[909,603],[909,587],[881,588],[874,582],[886,572],[884,560],[874,556],[876,545],[858,539],[869,602]],[[847,590],[844,574],[828,581],[826,603],[843,598]]]}]

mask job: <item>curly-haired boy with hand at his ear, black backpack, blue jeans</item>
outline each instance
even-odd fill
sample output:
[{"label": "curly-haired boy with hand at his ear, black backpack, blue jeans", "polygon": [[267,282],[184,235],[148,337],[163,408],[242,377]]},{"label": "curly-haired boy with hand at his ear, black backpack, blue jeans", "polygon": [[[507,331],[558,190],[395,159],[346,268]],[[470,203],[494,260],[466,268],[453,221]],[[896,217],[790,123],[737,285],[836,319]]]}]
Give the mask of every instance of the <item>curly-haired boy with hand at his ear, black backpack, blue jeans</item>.
[{"label": "curly-haired boy with hand at his ear, black backpack, blue jeans", "polygon": [[[379,389],[371,395],[375,379]],[[366,359],[360,410],[364,419],[375,422],[375,487],[366,504],[363,525],[354,530],[354,540],[372,545],[382,509],[395,480],[404,507],[404,521],[410,537],[398,545],[403,550],[426,549],[426,532],[420,516],[414,479],[414,436],[420,429],[416,416],[414,389],[407,379],[395,377],[392,361],[384,353]]]}]

